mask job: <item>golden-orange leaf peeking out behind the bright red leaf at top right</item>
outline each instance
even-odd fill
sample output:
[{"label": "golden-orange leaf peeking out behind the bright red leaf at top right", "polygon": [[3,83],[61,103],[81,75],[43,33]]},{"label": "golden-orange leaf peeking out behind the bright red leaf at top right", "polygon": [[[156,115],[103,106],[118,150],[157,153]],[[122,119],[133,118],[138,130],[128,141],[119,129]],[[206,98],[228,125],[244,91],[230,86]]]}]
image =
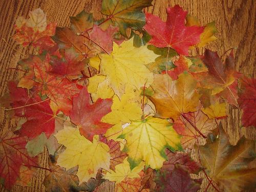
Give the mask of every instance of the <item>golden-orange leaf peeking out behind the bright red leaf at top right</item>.
[{"label": "golden-orange leaf peeking out behind the bright red leaf at top right", "polygon": [[[186,26],[200,26],[199,20],[195,16],[186,16]],[[215,22],[208,23],[204,26],[204,31],[200,35],[200,42],[197,44],[198,47],[205,47],[205,45],[217,39],[215,35],[217,29],[215,27]]]}]

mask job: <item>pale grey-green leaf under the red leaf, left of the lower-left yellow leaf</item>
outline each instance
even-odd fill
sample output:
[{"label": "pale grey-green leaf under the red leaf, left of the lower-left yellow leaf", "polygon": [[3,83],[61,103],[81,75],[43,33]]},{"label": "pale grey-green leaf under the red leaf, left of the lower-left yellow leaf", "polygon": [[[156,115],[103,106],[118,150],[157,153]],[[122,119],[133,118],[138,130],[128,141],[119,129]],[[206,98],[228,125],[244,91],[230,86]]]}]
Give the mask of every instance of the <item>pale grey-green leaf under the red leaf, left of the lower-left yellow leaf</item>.
[{"label": "pale grey-green leaf under the red leaf, left of the lower-left yellow leaf", "polygon": [[28,141],[28,143],[26,144],[26,149],[28,151],[28,154],[31,157],[35,157],[38,154],[44,152],[46,141],[47,141],[47,137],[45,133],[41,133],[41,135],[38,135],[34,139]]}]

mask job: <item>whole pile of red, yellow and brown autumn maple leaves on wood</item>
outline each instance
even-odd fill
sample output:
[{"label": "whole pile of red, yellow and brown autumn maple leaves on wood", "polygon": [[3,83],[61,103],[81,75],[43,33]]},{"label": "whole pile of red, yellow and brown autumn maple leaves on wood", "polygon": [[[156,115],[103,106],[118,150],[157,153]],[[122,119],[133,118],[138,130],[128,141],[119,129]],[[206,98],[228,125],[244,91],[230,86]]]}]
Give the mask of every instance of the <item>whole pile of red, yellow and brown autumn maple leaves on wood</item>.
[{"label": "whole pile of red, yellow and brown autumn maple leaves on wood", "polygon": [[101,20],[82,11],[64,28],[40,8],[17,18],[13,39],[38,54],[18,62],[24,76],[1,98],[18,119],[0,137],[7,189],[31,186],[40,169],[46,191],[198,191],[202,175],[205,191],[255,187],[255,141],[231,145],[219,119],[230,104],[256,126],[256,79],[234,69],[232,51],[191,56],[216,40],[215,22],[178,5],[164,22],[148,6],[103,0]]}]

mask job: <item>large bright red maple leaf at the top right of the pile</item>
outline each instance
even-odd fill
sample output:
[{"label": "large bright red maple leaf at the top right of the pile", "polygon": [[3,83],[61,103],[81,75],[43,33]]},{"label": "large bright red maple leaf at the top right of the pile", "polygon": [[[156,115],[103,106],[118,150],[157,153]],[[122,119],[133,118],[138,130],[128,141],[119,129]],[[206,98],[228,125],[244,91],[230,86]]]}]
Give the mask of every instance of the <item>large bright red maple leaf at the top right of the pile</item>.
[{"label": "large bright red maple leaf at the top right of the pile", "polygon": [[146,25],[144,29],[152,36],[148,44],[156,47],[169,47],[181,55],[188,55],[189,46],[196,45],[200,41],[203,27],[185,27],[184,20],[187,11],[183,11],[178,5],[167,8],[167,20],[163,22],[158,16],[146,13]]}]

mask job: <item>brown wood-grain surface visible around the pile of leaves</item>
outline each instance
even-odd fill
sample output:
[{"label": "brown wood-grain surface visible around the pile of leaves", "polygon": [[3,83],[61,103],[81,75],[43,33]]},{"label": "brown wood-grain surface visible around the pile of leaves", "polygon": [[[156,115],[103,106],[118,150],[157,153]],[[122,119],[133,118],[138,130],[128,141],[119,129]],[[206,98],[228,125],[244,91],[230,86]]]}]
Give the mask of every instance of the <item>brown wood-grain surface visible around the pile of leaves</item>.
[{"label": "brown wood-grain surface visible around the pile of leaves", "polygon": [[[139,0],[138,0],[139,1]],[[218,28],[218,40],[207,46],[211,50],[224,53],[230,48],[237,48],[236,69],[249,77],[256,77],[255,73],[255,0],[157,0],[154,7],[146,9],[162,19],[166,19],[165,8],[181,5],[185,10],[200,19],[201,24],[216,21]],[[75,16],[81,10],[93,12],[99,19],[100,0],[0,0],[0,95],[7,91],[9,80],[18,80],[23,73],[8,68],[17,68],[17,62],[33,53],[32,49],[21,48],[16,45],[11,36],[15,33],[13,25],[19,15],[28,16],[30,10],[40,7],[47,13],[48,22],[58,22],[59,27],[69,25],[69,16]],[[16,50],[16,51],[15,51]],[[202,51],[202,50],[200,50]],[[239,138],[255,139],[255,127],[241,128],[238,125],[238,110],[228,107],[228,118],[222,120],[232,144],[236,144]],[[15,121],[7,118],[4,108],[0,108],[1,129],[14,129]],[[40,155],[40,165],[47,167],[47,154]],[[255,162],[254,162],[255,164]],[[14,186],[11,191],[45,191],[44,181],[46,171],[40,170],[39,177],[33,179],[32,187]],[[204,186],[207,183],[203,183]],[[6,191],[1,185],[0,191]],[[113,191],[110,188],[101,191]],[[204,189],[202,189],[204,191]],[[214,191],[209,188],[208,191]]]}]

